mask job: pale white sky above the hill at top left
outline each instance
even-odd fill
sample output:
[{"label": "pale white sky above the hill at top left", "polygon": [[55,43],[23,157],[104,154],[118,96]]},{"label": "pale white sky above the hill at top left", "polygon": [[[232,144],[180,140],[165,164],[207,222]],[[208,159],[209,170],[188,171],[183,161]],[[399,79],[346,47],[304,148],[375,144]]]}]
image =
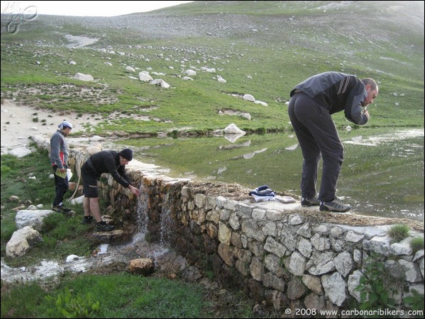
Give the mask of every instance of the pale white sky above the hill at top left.
[{"label": "pale white sky above the hill at top left", "polygon": [[1,1],[1,13],[57,16],[121,16],[147,12],[192,1]]}]

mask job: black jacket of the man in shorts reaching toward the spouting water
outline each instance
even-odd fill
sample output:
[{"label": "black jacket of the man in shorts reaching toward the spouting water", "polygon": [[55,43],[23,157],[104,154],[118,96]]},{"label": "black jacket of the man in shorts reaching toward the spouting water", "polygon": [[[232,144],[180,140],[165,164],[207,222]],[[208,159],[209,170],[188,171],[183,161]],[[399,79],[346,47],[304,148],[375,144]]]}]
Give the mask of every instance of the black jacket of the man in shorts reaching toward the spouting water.
[{"label": "black jacket of the man in shorts reaching toward the spouting water", "polygon": [[126,174],[126,165],[119,164],[118,152],[113,150],[97,152],[90,156],[87,162],[97,175],[109,173],[122,186],[127,188],[130,185],[130,179]]}]

